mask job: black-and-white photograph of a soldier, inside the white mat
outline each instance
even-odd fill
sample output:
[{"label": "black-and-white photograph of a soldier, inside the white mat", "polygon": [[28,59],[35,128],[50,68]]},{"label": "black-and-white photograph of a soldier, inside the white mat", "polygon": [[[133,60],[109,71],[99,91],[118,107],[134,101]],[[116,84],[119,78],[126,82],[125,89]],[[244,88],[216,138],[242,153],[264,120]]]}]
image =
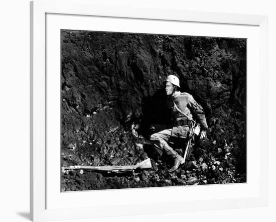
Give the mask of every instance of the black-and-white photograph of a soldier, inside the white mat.
[{"label": "black-and-white photograph of a soldier, inside the white mat", "polygon": [[246,183],[246,39],[61,30],[61,191]]}]

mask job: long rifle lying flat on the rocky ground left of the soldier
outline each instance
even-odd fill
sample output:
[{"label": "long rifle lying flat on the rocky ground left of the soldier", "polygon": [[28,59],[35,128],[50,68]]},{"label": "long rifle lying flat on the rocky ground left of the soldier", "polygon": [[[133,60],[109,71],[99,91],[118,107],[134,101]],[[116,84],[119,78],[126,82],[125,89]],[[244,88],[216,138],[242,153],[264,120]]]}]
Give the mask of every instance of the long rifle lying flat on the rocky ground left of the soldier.
[{"label": "long rifle lying flat on the rocky ground left of the soldier", "polygon": [[97,171],[106,171],[106,172],[126,172],[133,171],[135,169],[148,169],[152,168],[151,159],[148,158],[140,163],[135,165],[125,165],[125,166],[63,166],[62,170],[97,170]]}]

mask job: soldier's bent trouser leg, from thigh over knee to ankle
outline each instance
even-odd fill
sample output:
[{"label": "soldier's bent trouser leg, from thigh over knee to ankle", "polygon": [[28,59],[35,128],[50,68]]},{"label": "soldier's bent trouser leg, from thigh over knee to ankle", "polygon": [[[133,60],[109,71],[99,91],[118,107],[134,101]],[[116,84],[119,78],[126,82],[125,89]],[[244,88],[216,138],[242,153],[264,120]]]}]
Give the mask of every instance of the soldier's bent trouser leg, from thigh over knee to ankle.
[{"label": "soldier's bent trouser leg, from thigh over knee to ankle", "polygon": [[181,162],[183,158],[167,143],[168,140],[171,138],[171,135],[172,129],[166,129],[153,134],[150,140],[156,147],[158,147],[162,151],[165,151],[169,157],[173,159],[178,159]]}]

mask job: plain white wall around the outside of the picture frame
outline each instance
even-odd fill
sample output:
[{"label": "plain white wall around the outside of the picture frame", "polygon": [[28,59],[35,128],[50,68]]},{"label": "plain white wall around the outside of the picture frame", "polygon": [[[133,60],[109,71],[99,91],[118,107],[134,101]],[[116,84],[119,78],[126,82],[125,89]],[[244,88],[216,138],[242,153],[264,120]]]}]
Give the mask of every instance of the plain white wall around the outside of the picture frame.
[{"label": "plain white wall around the outside of the picture frame", "polygon": [[[93,1],[93,0],[91,0]],[[99,1],[96,1],[99,3]],[[101,1],[102,3],[103,1]],[[114,2],[115,1],[105,1]],[[276,118],[276,14],[273,1],[250,0],[116,0],[117,5],[183,9],[268,16],[269,33],[269,206],[174,214],[68,220],[87,221],[275,221],[276,158],[273,141]],[[29,220],[29,0],[0,5],[0,221]],[[185,197],[183,197],[185,198]],[[107,209],[108,210],[108,209]]]}]

